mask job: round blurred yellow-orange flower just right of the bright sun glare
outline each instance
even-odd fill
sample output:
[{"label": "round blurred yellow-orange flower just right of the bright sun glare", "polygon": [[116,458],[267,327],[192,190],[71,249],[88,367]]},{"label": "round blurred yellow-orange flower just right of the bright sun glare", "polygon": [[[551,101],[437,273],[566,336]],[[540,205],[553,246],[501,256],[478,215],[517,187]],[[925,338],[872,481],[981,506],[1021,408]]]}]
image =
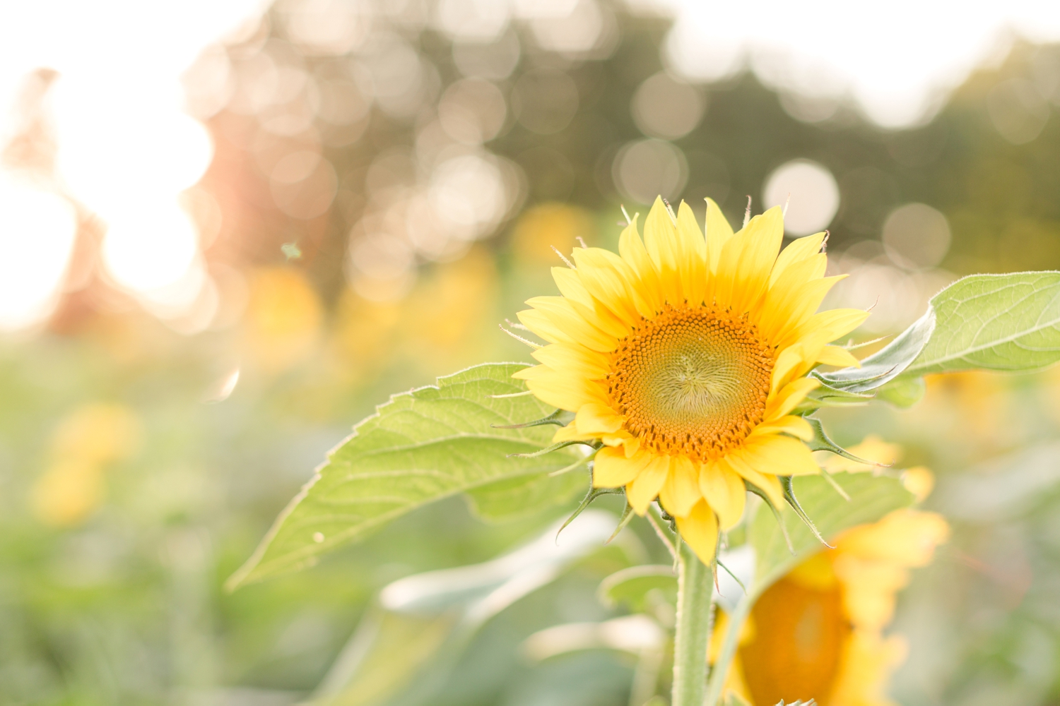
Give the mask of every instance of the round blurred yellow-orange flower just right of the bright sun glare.
[{"label": "round blurred yellow-orange flower just right of the bright sun glare", "polygon": [[282,370],[313,350],[323,319],[320,297],[293,267],[261,269],[249,279],[245,345],[263,368]]}]

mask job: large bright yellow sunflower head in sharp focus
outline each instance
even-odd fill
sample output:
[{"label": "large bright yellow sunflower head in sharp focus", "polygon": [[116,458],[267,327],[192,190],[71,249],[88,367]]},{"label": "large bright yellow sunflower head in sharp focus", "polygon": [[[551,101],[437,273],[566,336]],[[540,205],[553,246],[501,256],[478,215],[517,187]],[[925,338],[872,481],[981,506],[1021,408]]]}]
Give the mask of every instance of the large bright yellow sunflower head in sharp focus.
[{"label": "large bright yellow sunflower head in sharp focus", "polygon": [[548,345],[515,377],[542,401],[575,413],[555,441],[601,441],[593,484],[625,488],[644,514],[656,497],[682,538],[713,560],[718,531],[743,513],[745,484],[775,504],[777,476],[818,473],[809,423],[792,412],[814,366],[856,365],[828,345],[868,315],[817,312],[825,234],[783,252],[779,207],[732,232],[707,199],[706,236],[692,210],[656,199],[623,230],[618,254],[573,251],[553,268],[560,296],[537,296],[519,321]]}]

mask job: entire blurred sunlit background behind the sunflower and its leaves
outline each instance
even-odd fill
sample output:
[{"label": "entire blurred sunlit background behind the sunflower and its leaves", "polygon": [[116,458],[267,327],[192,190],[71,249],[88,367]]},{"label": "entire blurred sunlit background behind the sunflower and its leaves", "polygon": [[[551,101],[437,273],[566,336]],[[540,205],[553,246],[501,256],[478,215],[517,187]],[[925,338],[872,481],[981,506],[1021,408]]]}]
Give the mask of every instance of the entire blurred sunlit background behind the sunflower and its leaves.
[{"label": "entire blurred sunlit background behind the sunflower and its leaves", "polygon": [[[787,204],[863,339],[962,274],[1060,268],[1060,5],[973,5],[8,3],[0,703],[294,704],[382,586],[549,524],[447,502],[219,587],[388,394],[529,360],[498,324],[623,204]],[[970,375],[831,415],[932,467],[955,526],[900,605],[902,704],[1060,703],[1058,399],[1055,373]],[[518,656],[607,615],[605,568],[506,612],[470,654],[510,658],[435,703],[626,703],[617,653]]]}]

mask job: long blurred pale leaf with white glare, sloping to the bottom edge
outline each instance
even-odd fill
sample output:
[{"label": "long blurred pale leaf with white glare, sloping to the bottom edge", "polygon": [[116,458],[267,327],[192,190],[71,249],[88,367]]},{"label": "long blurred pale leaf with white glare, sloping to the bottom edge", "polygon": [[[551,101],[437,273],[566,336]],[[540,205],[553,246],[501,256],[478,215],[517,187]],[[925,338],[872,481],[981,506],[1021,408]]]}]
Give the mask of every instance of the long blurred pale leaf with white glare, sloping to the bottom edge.
[{"label": "long blurred pale leaf with white glare, sloping to the bottom edge", "polygon": [[493,561],[394,581],[357,626],[313,703],[428,703],[479,628],[554,580],[571,563],[602,548],[614,524],[614,514],[588,510],[559,540],[556,524]]}]

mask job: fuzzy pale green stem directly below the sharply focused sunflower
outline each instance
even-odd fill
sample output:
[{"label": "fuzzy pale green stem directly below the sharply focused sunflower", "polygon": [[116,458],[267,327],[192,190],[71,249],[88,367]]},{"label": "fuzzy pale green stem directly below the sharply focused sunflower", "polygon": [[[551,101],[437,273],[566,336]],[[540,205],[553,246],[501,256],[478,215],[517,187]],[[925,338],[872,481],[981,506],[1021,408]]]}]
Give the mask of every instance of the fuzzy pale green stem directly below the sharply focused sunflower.
[{"label": "fuzzy pale green stem directly below the sharply focused sunflower", "polygon": [[677,548],[677,622],[673,638],[671,706],[703,706],[707,691],[707,647],[713,581],[707,566],[684,542]]}]

